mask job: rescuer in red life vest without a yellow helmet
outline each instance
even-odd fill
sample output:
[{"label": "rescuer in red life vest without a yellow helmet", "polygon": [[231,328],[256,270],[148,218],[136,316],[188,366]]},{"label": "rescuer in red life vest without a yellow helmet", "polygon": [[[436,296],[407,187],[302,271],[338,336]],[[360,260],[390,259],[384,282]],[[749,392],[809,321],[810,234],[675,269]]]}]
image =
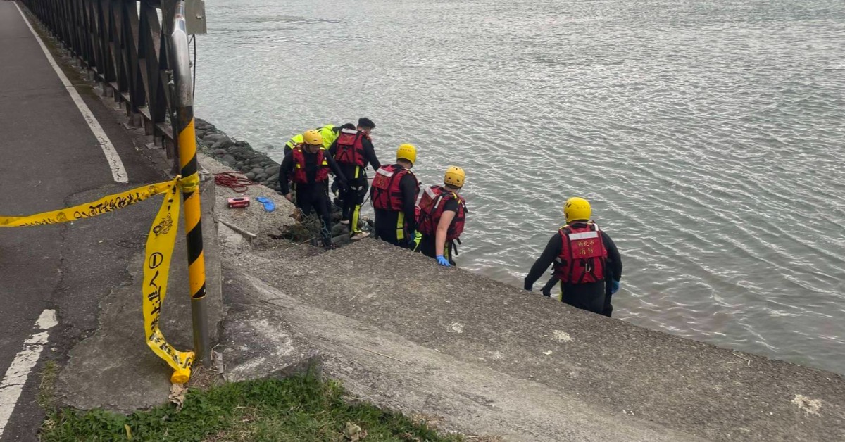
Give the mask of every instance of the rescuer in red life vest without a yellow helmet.
[{"label": "rescuer in red life vest without a yellow helmet", "polygon": [[330,156],[341,166],[349,187],[346,192],[343,192],[341,188],[340,200],[343,209],[341,224],[349,224],[349,237],[356,239],[368,235],[358,227],[361,205],[367,196],[369,185],[367,165],[373,166],[373,170],[379,170],[381,166],[379,158],[375,156],[373,142],[370,141],[370,131],[373,128],[375,128],[375,123],[372,120],[361,118],[358,120],[356,130],[342,129],[341,134],[329,148]]}]

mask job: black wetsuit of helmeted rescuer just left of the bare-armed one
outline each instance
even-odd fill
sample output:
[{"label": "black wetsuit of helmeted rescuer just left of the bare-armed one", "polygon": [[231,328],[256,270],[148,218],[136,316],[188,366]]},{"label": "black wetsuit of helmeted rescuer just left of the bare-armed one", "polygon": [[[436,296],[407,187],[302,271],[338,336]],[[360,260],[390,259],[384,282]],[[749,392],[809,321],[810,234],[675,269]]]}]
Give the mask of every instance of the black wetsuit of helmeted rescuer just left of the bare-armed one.
[{"label": "black wetsuit of helmeted rescuer just left of the bare-armed one", "polygon": [[[404,168],[399,164],[394,166]],[[376,209],[375,235],[395,246],[412,248],[412,233],[417,232],[417,179],[410,173],[402,175],[399,189],[402,193],[402,210]]]}]

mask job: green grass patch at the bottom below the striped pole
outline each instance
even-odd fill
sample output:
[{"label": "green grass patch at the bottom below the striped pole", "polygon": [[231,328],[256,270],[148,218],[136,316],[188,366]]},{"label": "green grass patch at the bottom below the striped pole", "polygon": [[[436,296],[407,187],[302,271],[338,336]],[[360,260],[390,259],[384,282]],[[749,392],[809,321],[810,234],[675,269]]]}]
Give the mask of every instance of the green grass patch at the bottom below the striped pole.
[{"label": "green grass patch at the bottom below the striped pole", "polygon": [[130,416],[65,409],[48,414],[43,441],[413,440],[460,441],[401,413],[344,401],[335,381],[262,379],[188,391],[172,405]]}]

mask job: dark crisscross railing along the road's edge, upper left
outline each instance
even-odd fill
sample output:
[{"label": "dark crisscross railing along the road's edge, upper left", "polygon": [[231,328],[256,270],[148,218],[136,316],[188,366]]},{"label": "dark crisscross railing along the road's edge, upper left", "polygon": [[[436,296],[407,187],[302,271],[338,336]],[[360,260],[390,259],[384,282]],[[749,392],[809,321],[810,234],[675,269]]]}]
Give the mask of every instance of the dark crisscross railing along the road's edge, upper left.
[{"label": "dark crisscross railing along the road's edge, upper left", "polygon": [[[125,103],[128,123],[144,125],[167,157],[175,155],[168,88],[174,2],[167,0],[22,0],[107,96]],[[160,12],[161,11],[161,12]]]}]

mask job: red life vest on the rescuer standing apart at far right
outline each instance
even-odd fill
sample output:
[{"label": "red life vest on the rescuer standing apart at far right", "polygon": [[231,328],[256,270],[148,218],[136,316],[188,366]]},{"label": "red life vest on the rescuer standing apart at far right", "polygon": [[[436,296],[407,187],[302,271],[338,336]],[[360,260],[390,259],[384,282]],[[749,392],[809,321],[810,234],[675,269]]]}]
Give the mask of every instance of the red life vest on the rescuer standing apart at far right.
[{"label": "red life vest on the rescuer standing apart at far right", "polygon": [[604,248],[602,232],[592,222],[578,225],[563,226],[559,230],[563,245],[554,260],[554,276],[564,284],[604,281],[608,249]]}]

